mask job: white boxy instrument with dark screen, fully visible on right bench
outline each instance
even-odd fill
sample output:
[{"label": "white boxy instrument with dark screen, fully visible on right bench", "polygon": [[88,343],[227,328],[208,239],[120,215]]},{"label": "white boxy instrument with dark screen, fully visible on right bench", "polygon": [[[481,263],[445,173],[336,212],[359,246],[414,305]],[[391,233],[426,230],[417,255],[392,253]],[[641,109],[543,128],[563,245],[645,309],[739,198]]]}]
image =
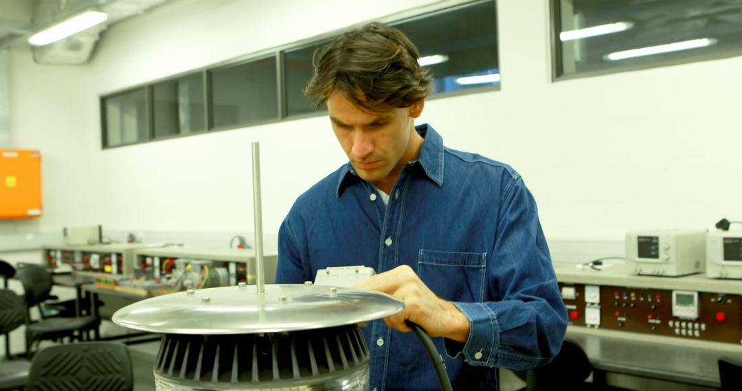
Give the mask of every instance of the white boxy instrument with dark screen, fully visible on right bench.
[{"label": "white boxy instrument with dark screen, fully visible on right bench", "polygon": [[703,273],[706,230],[644,230],[626,233],[626,261],[634,273],[677,277]]}]

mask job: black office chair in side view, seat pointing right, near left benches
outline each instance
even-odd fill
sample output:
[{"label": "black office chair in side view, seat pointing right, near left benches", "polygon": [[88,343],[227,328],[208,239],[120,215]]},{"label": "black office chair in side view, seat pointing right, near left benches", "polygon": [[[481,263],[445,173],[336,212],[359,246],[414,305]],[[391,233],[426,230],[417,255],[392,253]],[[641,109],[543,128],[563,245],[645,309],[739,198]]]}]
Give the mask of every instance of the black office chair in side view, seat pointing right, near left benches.
[{"label": "black office chair in side view, seat pointing right, near left benches", "polygon": [[[17,273],[24,290],[26,302],[26,355],[30,357],[31,348],[36,341],[55,339],[62,341],[67,337],[83,341],[90,339],[90,332],[96,332],[100,319],[95,316],[52,317],[45,315],[44,301],[55,296],[50,295],[52,275],[40,265],[24,265]],[[31,321],[30,309],[38,307],[41,319]],[[96,335],[97,338],[97,335]]]}]

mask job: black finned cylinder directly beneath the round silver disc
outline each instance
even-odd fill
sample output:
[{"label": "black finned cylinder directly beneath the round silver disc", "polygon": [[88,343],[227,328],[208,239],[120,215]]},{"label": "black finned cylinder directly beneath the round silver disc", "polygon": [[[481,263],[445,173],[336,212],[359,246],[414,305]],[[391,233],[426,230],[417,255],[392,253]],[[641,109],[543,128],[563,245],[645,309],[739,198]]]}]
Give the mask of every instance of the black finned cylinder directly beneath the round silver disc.
[{"label": "black finned cylinder directly beneath the round silver disc", "polygon": [[157,390],[368,390],[358,325],[295,332],[162,337]]}]

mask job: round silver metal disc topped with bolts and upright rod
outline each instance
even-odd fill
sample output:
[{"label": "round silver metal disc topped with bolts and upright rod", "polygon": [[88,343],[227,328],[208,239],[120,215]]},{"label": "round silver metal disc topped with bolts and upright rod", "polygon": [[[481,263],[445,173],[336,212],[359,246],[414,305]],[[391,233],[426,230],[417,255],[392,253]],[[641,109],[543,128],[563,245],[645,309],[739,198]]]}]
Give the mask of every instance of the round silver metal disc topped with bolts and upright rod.
[{"label": "round silver metal disc topped with bolts and upright rod", "polygon": [[[124,307],[113,321],[148,332],[243,334],[357,324],[404,309],[401,301],[370,290],[305,284],[269,284],[265,290],[257,295],[257,287],[248,285],[171,293]],[[207,297],[209,302],[203,302]]]}]

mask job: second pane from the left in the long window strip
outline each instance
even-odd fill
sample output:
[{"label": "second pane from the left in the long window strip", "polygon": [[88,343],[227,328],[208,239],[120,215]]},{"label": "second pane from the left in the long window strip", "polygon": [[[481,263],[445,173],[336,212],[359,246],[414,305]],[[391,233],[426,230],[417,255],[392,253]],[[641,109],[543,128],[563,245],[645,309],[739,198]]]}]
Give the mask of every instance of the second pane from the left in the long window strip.
[{"label": "second pane from the left in the long window strip", "polygon": [[152,94],[154,138],[206,130],[202,73],[155,84]]}]

